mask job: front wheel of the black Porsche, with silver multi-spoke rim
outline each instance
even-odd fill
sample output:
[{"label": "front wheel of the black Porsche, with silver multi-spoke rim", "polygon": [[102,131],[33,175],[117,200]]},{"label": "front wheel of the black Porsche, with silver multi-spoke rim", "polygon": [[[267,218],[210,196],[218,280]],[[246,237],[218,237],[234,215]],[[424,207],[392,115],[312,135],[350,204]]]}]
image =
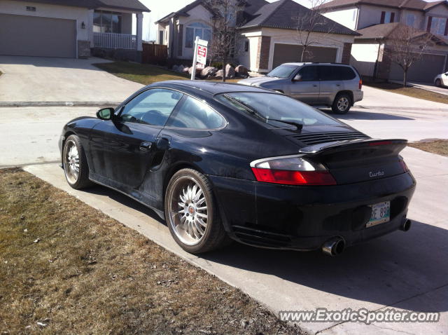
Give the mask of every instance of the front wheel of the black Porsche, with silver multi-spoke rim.
[{"label": "front wheel of the black Porsche, with silver multi-spoke rim", "polygon": [[89,180],[87,158],[79,137],[70,135],[64,142],[62,151],[62,167],[66,181],[73,189],[85,189],[92,186]]}]

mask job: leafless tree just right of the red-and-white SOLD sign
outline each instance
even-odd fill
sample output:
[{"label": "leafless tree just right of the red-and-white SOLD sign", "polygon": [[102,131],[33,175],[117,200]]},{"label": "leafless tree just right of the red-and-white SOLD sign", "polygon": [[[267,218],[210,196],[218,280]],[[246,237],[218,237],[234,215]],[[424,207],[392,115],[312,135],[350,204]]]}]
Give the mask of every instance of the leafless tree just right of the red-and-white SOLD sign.
[{"label": "leafless tree just right of the red-and-white SOLD sign", "polygon": [[228,60],[235,57],[235,46],[238,39],[237,15],[243,9],[239,0],[206,0],[205,4],[214,13],[213,36],[209,46],[211,59],[223,62],[223,81],[226,77]]}]

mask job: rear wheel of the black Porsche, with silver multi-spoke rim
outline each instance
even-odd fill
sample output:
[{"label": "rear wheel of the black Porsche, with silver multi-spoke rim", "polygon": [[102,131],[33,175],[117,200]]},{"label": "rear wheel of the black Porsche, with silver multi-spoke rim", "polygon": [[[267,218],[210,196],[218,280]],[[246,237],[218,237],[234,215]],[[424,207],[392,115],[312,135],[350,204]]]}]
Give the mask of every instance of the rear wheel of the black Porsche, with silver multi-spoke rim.
[{"label": "rear wheel of the black Porsche, with silver multi-spoke rim", "polygon": [[200,254],[225,245],[224,231],[211,185],[202,173],[183,169],[172,177],[165,193],[165,219],[182,249]]}]

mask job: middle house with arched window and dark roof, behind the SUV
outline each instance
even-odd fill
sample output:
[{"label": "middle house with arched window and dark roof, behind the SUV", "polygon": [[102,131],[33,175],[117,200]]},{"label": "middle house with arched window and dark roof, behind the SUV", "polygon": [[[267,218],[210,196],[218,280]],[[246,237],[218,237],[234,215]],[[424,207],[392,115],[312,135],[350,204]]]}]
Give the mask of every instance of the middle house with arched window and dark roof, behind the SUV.
[{"label": "middle house with arched window and dark roof, behind the SUV", "polygon": [[[310,9],[292,0],[246,0],[240,4],[242,13],[235,15],[240,37],[235,59],[239,64],[263,73],[284,62],[300,60],[297,20]],[[213,41],[213,18],[213,9],[205,1],[193,1],[155,22],[157,42],[168,46],[170,58],[191,60],[195,36]],[[358,33],[323,16],[311,30],[315,43],[307,50],[307,61],[349,63],[351,44]]]}]

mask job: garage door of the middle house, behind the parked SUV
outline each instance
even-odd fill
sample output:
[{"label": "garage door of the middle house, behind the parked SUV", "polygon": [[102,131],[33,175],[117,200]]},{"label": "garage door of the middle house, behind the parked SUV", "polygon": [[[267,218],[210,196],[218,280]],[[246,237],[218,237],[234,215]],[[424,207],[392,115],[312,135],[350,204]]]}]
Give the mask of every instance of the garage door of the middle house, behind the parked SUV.
[{"label": "garage door of the middle house, behind the parked SUV", "polygon": [[[293,44],[274,44],[274,62],[272,68],[288,62],[300,62],[302,46]],[[309,46],[305,55],[306,62],[336,62],[337,48]]]}]

